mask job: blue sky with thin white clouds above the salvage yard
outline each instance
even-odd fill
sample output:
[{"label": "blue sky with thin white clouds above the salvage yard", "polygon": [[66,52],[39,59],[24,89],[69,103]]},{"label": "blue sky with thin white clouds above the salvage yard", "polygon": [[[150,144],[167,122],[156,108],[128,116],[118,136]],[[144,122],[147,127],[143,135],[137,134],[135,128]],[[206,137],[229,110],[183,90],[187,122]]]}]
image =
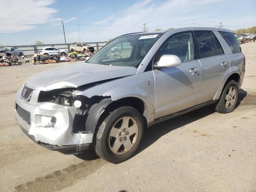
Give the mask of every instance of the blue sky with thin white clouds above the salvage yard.
[{"label": "blue sky with thin white clouds above the salvage yard", "polygon": [[[0,0],[0,44],[28,45],[104,41],[156,28],[256,26],[256,0]],[[245,8],[243,8],[243,5]],[[195,24],[194,23],[195,20]]]}]

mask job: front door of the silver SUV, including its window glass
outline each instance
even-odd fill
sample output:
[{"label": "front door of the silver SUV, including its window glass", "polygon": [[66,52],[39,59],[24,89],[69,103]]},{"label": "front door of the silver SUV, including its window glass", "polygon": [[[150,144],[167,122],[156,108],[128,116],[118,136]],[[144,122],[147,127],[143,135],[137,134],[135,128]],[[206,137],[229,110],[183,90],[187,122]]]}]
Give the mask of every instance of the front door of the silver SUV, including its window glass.
[{"label": "front door of the silver SUV, including its window glass", "polygon": [[191,32],[172,35],[156,53],[154,63],[165,54],[178,56],[182,64],[153,70],[155,119],[195,106],[200,89],[201,66],[194,57]]}]

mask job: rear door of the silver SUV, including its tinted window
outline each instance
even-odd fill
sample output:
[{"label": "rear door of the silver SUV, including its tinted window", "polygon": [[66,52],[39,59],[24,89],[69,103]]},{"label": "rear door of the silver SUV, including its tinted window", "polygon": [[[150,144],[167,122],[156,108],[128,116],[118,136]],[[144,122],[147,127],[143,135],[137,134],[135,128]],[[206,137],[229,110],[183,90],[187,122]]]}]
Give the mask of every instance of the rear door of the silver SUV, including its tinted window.
[{"label": "rear door of the silver SUV, including its tinted window", "polygon": [[212,31],[194,31],[194,34],[201,64],[201,86],[197,104],[202,104],[214,98],[230,62]]}]

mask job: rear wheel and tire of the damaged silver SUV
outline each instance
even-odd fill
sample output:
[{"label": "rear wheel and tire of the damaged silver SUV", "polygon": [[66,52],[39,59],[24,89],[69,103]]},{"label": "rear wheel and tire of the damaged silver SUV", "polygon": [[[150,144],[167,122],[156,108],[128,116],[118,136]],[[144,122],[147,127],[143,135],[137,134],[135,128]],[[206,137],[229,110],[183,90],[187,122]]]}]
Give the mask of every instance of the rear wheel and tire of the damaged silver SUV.
[{"label": "rear wheel and tire of the damaged silver SUV", "polygon": [[216,104],[215,111],[219,113],[230,113],[234,111],[238,100],[238,84],[231,80],[224,88],[220,100]]}]

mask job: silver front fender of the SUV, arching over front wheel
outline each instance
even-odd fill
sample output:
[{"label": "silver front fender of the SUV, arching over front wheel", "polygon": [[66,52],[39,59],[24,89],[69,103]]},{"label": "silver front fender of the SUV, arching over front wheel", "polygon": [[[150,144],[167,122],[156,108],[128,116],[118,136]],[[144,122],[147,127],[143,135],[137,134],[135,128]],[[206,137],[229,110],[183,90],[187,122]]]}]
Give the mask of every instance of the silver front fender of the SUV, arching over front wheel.
[{"label": "silver front fender of the SUV, arching over front wheel", "polygon": [[102,100],[94,104],[88,111],[90,120],[88,118],[86,120],[86,130],[89,128],[92,132],[94,132],[96,123],[104,108],[122,98],[134,97],[142,100],[147,108],[148,121],[154,120],[155,93],[154,74],[152,71],[105,82],[77,93],[77,95],[83,95],[89,99],[95,96],[102,97]]}]

